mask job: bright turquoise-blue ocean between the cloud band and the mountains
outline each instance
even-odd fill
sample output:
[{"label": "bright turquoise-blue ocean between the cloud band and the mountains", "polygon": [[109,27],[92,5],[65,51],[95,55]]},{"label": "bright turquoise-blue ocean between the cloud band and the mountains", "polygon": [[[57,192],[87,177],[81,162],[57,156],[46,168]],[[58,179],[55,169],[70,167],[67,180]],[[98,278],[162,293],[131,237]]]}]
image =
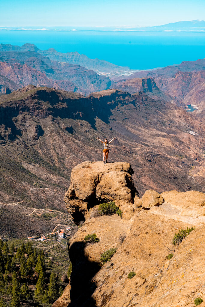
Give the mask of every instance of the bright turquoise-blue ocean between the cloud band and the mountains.
[{"label": "bright turquoise-blue ocean between the cloud band and the mountains", "polygon": [[131,69],[151,69],[205,57],[205,33],[1,30],[0,43],[33,43],[45,50],[77,51]]}]

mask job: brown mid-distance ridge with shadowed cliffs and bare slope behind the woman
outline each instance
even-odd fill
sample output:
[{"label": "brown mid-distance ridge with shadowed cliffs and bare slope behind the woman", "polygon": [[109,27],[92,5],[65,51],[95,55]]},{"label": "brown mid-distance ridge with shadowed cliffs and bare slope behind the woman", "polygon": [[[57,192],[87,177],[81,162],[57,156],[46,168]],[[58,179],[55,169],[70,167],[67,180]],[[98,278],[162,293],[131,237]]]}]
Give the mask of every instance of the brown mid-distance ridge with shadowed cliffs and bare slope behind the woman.
[{"label": "brown mid-distance ridge with shadowed cliffs and bare slope behind the woman", "polygon": [[[204,134],[203,118],[143,92],[83,97],[30,85],[0,96],[0,202],[66,210],[72,168],[102,159],[98,136],[116,136],[108,162],[132,164],[140,197],[148,189],[204,192]],[[0,232],[12,228],[13,220],[1,218]]]}]

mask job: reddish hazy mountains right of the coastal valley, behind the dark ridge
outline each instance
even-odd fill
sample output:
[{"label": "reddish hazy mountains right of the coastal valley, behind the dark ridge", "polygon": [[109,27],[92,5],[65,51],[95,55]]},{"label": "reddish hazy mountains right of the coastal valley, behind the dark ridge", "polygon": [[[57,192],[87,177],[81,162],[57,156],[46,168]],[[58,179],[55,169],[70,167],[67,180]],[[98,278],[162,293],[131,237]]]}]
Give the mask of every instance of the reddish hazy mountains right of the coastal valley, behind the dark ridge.
[{"label": "reddish hazy mountains right of the coastal valley, behind the dark ridge", "polygon": [[151,97],[157,95],[174,101],[178,106],[192,104],[195,113],[205,115],[205,59],[114,77],[112,87],[129,93],[144,91]]}]

